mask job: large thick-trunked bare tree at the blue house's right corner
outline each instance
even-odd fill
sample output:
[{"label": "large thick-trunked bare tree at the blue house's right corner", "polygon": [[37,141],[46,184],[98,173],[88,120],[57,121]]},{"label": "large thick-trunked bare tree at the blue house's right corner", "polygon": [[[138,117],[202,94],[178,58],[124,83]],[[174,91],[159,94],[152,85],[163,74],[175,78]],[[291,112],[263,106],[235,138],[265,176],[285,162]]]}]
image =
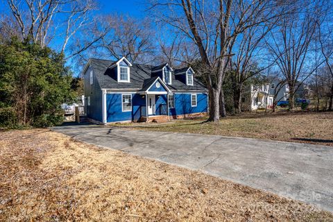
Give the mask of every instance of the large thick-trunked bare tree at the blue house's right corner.
[{"label": "large thick-trunked bare tree at the blue house's right corner", "polygon": [[161,0],[152,3],[157,22],[182,31],[198,47],[202,60],[200,72],[210,92],[210,121],[219,122],[220,114],[225,117],[222,85],[232,42],[250,26],[279,16],[277,6],[275,1]]}]

